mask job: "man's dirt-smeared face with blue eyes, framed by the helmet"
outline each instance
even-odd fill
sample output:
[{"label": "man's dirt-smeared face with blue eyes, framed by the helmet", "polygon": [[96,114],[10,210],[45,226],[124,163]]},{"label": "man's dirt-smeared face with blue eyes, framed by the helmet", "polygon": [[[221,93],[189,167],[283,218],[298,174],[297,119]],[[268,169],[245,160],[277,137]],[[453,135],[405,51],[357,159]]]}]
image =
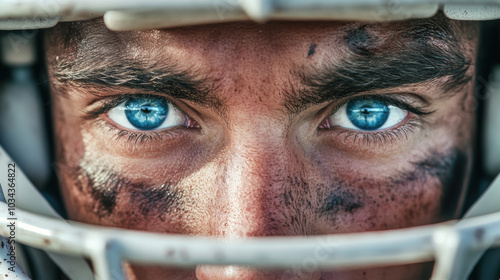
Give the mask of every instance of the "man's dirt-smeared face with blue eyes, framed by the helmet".
[{"label": "man's dirt-smeared face with blue eyes, framed by the helmet", "polygon": [[[46,59],[68,214],[226,239],[456,217],[473,156],[477,33],[440,15],[140,32],[60,24]],[[125,268],[131,279],[429,278],[429,264]]]}]

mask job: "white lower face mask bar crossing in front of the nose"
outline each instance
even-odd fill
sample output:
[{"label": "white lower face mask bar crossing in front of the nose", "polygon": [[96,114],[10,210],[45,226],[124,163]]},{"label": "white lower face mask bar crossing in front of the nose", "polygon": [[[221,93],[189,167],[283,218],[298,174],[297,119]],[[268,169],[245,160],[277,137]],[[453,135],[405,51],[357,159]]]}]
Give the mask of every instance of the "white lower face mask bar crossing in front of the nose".
[{"label": "white lower face mask bar crossing in front of the nose", "polygon": [[[12,161],[0,149],[1,166],[8,166],[9,163]],[[21,210],[24,208],[54,216],[53,210],[44,204],[43,197],[20,170],[15,172],[14,196],[9,195],[12,193],[8,191],[12,187],[9,182],[12,182],[8,178],[12,177],[0,178],[8,202],[0,202],[0,213],[5,213],[0,215],[0,235],[11,237],[9,225],[15,222],[13,238],[16,242],[57,252],[56,257],[61,257],[61,254],[88,257],[94,265],[97,280],[125,279],[122,269],[122,262],[125,261],[187,267],[217,264],[307,271],[431,260],[436,260],[433,280],[465,279],[467,270],[485,250],[500,246],[500,212],[496,212],[500,210],[500,205],[495,199],[500,195],[500,178],[494,181],[485,196],[468,213],[471,217],[483,216],[466,218],[458,223],[452,221],[371,233],[232,241],[68,224],[61,218],[49,218]],[[38,202],[35,203],[33,199]],[[9,216],[10,211],[14,212]],[[6,253],[5,250],[0,252]],[[1,257],[10,258],[6,255]],[[82,259],[66,258],[63,261],[59,259],[58,263],[71,279],[92,279]],[[3,273],[8,270],[7,266],[17,267],[17,264],[3,262],[0,271]],[[17,273],[18,279],[28,279],[20,270]],[[10,270],[6,274],[14,275]]]}]

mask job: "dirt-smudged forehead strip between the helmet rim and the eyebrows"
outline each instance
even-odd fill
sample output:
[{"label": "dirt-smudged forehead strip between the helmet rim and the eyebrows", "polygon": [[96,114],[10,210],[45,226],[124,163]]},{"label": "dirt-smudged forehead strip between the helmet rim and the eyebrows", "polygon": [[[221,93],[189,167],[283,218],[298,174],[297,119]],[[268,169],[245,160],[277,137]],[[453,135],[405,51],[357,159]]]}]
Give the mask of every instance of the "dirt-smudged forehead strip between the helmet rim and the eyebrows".
[{"label": "dirt-smudged forehead strip between the helmet rim and the eyebrows", "polygon": [[[252,22],[205,26],[112,32],[101,19],[63,24],[59,51],[74,50],[78,55],[99,54],[116,58],[148,57],[181,61],[217,62],[236,59],[297,59],[312,54],[329,59],[354,52],[373,54],[404,49],[411,42],[428,38],[446,39],[456,32],[444,16],[428,20],[395,23],[363,22]],[[212,58],[212,59],[210,59]],[[155,59],[157,60],[157,59]]]}]

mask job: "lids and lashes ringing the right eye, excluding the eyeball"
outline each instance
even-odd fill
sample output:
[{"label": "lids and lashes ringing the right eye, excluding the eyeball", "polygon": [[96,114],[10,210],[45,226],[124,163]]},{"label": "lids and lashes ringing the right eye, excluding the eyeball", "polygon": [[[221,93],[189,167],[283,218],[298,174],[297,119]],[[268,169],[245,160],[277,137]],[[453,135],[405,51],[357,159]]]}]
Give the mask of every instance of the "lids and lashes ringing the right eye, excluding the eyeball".
[{"label": "lids and lashes ringing the right eye, excluding the eyeball", "polygon": [[320,127],[319,129],[336,131],[337,137],[345,135],[344,141],[349,140],[349,138],[353,138],[353,144],[356,144],[356,142],[361,141],[365,145],[369,144],[383,145],[387,143],[394,143],[395,141],[400,141],[403,138],[405,140],[408,140],[409,134],[413,134],[415,132],[415,129],[422,127],[422,125],[424,124],[424,117],[434,112],[434,111],[429,111],[426,108],[427,106],[413,106],[405,101],[387,95],[365,95],[365,96],[351,98],[345,100],[344,102],[341,102],[335,107],[335,109],[329,116],[337,113],[338,110],[348,102],[360,99],[378,99],[380,101],[384,101],[389,105],[393,105],[408,111],[410,115],[407,118],[410,119],[407,120],[406,123],[399,125],[396,128],[389,128],[375,132],[355,131],[337,126],[331,128]]}]

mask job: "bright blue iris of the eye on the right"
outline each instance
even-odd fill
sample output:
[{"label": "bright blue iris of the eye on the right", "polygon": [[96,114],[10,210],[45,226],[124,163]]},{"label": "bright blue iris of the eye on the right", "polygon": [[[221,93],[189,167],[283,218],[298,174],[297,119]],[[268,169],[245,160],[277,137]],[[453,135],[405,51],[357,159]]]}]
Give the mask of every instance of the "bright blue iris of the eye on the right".
[{"label": "bright blue iris of the eye on the right", "polygon": [[357,99],[347,103],[346,113],[357,128],[376,130],[385,124],[390,109],[386,102],[377,99]]}]

